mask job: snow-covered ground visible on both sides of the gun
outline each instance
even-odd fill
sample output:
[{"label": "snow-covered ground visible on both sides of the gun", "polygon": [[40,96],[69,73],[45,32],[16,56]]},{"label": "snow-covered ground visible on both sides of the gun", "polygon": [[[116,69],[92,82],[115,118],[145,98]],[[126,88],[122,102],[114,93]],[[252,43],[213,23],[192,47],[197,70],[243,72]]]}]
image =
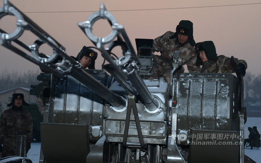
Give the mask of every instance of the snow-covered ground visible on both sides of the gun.
[{"label": "snow-covered ground visible on both sides of the gun", "polygon": [[[248,138],[249,131],[248,127],[256,126],[258,129],[258,132],[261,131],[261,118],[247,118],[247,123],[245,124],[245,138]],[[40,158],[40,149],[41,149],[41,143],[32,142],[31,149],[27,153],[27,158],[30,158],[33,163],[39,163]],[[245,155],[250,157],[252,160],[254,160],[257,163],[261,163],[261,148],[256,149],[253,148],[253,150],[250,150],[250,147],[245,148]]]}]

